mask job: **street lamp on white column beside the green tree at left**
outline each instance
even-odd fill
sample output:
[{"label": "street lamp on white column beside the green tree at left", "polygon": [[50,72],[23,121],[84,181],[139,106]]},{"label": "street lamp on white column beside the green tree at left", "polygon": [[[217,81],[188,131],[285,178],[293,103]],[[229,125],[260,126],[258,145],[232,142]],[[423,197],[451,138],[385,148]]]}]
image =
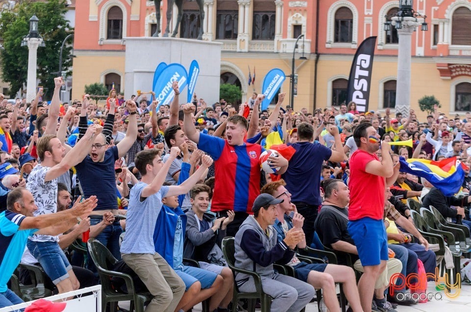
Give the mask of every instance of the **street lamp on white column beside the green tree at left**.
[{"label": "street lamp on white column beside the green tree at left", "polygon": [[36,95],[36,71],[38,47],[45,47],[43,38],[38,33],[39,19],[33,15],[29,19],[29,33],[23,37],[22,47],[28,47],[28,78],[26,82],[26,102],[31,102]]}]

